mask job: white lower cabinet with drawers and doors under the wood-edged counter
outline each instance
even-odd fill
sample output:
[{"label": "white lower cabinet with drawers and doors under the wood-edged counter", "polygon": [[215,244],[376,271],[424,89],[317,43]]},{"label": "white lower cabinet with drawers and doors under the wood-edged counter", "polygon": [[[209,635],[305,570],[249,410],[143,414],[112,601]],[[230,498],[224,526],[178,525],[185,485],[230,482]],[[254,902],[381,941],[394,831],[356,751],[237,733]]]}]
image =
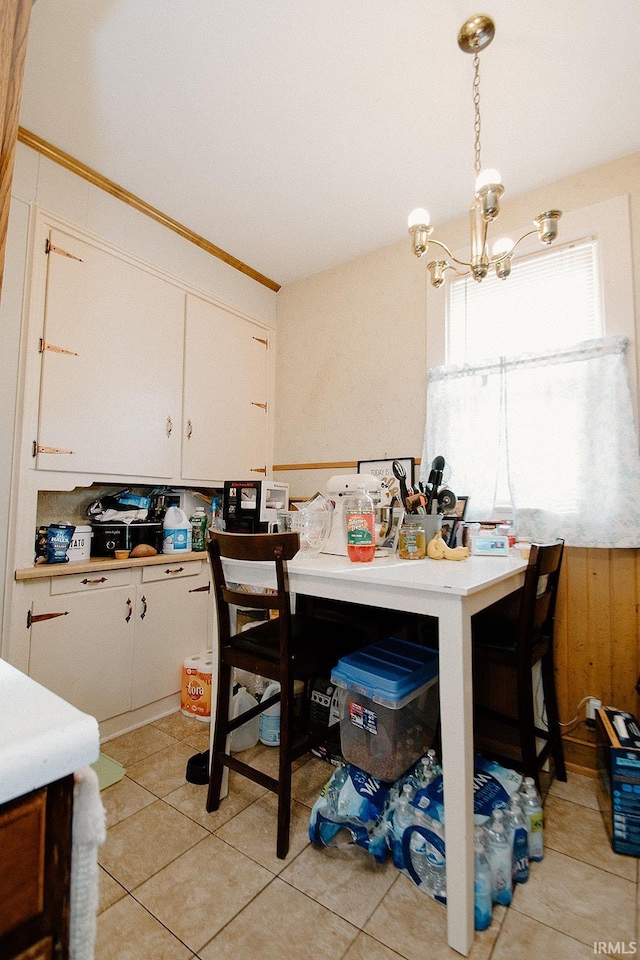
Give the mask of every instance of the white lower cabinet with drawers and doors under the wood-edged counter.
[{"label": "white lower cabinet with drawers and doors under the wood-edged counter", "polygon": [[27,593],[29,676],[98,721],[179,692],[185,657],[212,643],[206,560],[56,576]]}]

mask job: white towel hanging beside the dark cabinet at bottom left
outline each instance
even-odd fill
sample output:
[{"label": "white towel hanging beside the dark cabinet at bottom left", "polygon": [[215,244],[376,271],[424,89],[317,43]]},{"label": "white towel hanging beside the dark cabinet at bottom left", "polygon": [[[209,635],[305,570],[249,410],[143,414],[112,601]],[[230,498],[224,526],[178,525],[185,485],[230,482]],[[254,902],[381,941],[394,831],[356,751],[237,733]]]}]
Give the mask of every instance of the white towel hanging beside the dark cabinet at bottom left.
[{"label": "white towel hanging beside the dark cabinet at bottom left", "polygon": [[98,775],[92,767],[74,774],[71,843],[70,960],[93,960],[98,914],[98,847],[107,836]]}]

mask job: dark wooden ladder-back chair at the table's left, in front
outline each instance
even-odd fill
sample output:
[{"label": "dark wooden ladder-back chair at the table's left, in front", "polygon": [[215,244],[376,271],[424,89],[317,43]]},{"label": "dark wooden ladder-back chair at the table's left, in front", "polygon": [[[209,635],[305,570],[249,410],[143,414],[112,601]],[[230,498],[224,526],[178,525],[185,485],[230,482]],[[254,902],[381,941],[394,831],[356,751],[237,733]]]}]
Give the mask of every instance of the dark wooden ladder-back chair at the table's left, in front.
[{"label": "dark wooden ladder-back chair at the table's left, in front", "polygon": [[[294,730],[293,684],[315,676],[329,675],[340,657],[363,641],[357,630],[341,629],[335,623],[322,623],[291,613],[287,561],[298,552],[297,533],[218,533],[213,532],[207,549],[213,571],[218,619],[218,696],[215,709],[215,733],[212,745],[207,811],[220,803],[224,767],[229,767],[278,796],[277,856],[284,859],[289,850],[291,819],[291,765],[312,746],[327,737],[327,727],[313,728],[305,698],[301,729]],[[275,567],[276,588],[272,594],[246,593],[229,586],[223,558],[270,561]],[[274,611],[277,616],[256,623],[241,633],[231,634],[229,606]],[[261,701],[234,720],[229,720],[230,688],[233,669],[275,680],[280,693]],[[226,752],[226,740],[237,727],[280,702],[280,755],[277,779]],[[328,775],[327,775],[328,779]]]}]

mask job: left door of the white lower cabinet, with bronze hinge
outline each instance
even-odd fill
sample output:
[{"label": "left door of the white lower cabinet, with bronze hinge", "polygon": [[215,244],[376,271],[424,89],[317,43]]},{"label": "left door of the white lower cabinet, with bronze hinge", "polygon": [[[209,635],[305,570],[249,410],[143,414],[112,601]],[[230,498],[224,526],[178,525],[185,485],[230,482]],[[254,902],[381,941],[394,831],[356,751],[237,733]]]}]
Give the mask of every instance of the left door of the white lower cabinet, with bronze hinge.
[{"label": "left door of the white lower cabinet, with bronze hinge", "polygon": [[29,676],[98,721],[131,709],[134,590],[69,593],[31,607]]}]

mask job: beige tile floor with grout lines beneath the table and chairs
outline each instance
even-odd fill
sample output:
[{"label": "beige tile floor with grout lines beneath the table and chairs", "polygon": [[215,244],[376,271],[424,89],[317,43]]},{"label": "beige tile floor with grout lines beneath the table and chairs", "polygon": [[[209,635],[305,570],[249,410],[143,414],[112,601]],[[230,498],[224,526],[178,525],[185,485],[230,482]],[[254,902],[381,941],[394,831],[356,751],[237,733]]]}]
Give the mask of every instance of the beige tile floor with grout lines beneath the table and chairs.
[{"label": "beige tile floor with grout lines beneath the table and chairs", "polygon": [[[275,797],[232,774],[205,811],[187,760],[208,727],[180,713],[104,745],[126,767],[103,791],[96,960],[440,960],[446,911],[356,847],[309,844],[309,812],[331,768],[302,758],[293,776],[291,849],[275,856]],[[264,769],[276,751],[254,748]],[[472,960],[578,960],[636,953],[638,861],[611,851],[596,781],[569,774],[545,806],[546,855],[494,908]],[[600,946],[599,946],[600,944]]]}]

